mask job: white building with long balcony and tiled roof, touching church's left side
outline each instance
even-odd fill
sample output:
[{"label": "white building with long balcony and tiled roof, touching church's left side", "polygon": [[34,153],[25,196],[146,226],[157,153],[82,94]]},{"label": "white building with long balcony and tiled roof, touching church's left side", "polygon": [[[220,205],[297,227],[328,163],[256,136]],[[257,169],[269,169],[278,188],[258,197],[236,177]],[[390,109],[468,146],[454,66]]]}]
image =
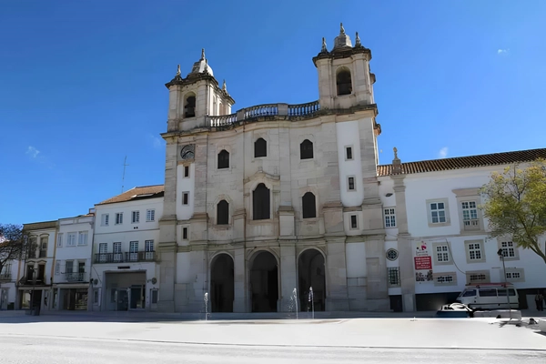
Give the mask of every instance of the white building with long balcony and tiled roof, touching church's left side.
[{"label": "white building with long balcony and tiled roof, touching church's left side", "polygon": [[162,213],[163,186],[135,187],[96,205],[92,310],[157,309]]}]

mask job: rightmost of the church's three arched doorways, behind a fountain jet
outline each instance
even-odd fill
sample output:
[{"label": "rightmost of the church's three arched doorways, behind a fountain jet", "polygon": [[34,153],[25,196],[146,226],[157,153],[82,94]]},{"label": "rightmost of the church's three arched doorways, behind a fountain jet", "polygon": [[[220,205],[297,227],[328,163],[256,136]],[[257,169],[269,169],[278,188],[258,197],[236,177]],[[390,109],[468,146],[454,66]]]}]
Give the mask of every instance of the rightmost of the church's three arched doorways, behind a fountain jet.
[{"label": "rightmost of the church's three arched doorways, behind a fountain jet", "polygon": [[[308,249],[298,258],[299,309],[311,309],[308,301],[309,288],[313,288],[316,311],[324,311],[326,300],[324,256],[317,249]],[[309,306],[309,307],[308,307]]]}]

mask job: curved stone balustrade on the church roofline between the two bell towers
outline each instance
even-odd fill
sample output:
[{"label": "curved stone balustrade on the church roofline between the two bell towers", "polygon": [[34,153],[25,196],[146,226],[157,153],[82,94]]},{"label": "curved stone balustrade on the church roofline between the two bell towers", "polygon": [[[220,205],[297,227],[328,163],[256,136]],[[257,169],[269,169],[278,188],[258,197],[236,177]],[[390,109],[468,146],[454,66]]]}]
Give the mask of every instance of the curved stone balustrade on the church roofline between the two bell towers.
[{"label": "curved stone balustrade on the church roofline between the two bell towers", "polygon": [[240,121],[264,116],[286,116],[290,118],[313,116],[320,110],[319,101],[307,104],[264,104],[250,106],[230,115],[208,116],[208,125],[212,127],[230,126]]}]

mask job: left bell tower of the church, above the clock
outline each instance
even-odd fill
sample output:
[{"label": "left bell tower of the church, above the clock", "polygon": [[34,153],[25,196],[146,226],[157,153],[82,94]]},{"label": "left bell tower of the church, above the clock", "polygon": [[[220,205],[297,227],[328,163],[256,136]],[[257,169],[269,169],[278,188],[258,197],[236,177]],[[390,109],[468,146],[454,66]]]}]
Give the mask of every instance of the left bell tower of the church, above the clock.
[{"label": "left bell tower of the church, above the clock", "polygon": [[205,57],[194,63],[183,78],[177,75],[165,86],[169,91],[167,131],[176,132],[207,126],[207,116],[229,115],[235,100],[227,93],[226,81],[220,87]]}]

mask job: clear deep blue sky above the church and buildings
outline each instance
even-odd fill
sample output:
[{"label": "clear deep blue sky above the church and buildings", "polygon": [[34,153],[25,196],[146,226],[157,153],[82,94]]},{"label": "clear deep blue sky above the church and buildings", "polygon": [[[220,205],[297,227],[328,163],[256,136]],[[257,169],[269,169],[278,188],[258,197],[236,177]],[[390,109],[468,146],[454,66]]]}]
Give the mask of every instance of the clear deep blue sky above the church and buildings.
[{"label": "clear deep blue sky above the church and buildings", "polygon": [[162,184],[167,88],[207,53],[240,108],[318,99],[343,22],[372,51],[379,160],[544,147],[546,2],[43,1],[0,5],[0,222]]}]

